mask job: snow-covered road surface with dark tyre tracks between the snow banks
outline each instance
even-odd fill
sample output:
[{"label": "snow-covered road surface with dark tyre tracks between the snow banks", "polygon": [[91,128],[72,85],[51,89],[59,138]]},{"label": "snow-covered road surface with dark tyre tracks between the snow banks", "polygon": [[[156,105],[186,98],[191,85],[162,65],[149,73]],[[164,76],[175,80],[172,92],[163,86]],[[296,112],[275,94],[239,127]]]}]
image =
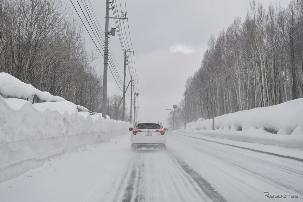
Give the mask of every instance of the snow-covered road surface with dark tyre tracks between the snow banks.
[{"label": "snow-covered road surface with dark tyre tracks between the snow banks", "polygon": [[201,138],[168,134],[166,153],[131,152],[125,134],[1,183],[0,201],[302,201],[301,159]]}]

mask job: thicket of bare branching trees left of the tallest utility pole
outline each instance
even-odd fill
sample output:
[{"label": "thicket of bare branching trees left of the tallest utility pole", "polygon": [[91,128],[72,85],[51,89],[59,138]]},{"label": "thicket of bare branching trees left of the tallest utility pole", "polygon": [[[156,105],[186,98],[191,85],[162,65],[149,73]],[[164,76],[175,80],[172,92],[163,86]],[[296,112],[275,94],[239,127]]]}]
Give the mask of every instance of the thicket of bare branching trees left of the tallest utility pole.
[{"label": "thicket of bare branching trees left of the tallest utility pole", "polygon": [[102,77],[61,0],[0,1],[0,70],[100,112]]}]

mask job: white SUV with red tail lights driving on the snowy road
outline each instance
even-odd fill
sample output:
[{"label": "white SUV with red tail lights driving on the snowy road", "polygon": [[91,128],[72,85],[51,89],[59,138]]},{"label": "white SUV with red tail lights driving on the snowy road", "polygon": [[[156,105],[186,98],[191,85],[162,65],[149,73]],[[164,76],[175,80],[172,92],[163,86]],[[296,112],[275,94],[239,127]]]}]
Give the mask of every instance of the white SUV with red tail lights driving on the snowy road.
[{"label": "white SUV with red tail lights driving on the snowy road", "polygon": [[131,133],[131,150],[139,148],[154,148],[166,151],[167,128],[161,122],[136,122]]}]

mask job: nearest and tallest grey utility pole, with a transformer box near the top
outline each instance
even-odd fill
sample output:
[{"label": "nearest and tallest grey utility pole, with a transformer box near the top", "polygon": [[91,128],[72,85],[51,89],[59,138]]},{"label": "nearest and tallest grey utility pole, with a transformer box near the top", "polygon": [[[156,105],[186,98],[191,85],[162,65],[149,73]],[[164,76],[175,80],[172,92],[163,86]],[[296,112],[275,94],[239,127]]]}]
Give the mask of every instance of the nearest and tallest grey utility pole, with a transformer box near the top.
[{"label": "nearest and tallest grey utility pole, with a transformer box near the top", "polygon": [[[108,31],[108,20],[109,10],[114,8],[109,8],[110,0],[106,0],[106,13],[105,13],[105,39],[104,39],[104,69],[103,69],[103,93],[102,93],[102,117],[106,119],[106,103],[107,103],[107,61],[108,61],[108,39],[109,35],[115,36],[116,28],[111,28],[111,31]],[[122,13],[122,18],[115,19],[127,19],[126,15]]]}]

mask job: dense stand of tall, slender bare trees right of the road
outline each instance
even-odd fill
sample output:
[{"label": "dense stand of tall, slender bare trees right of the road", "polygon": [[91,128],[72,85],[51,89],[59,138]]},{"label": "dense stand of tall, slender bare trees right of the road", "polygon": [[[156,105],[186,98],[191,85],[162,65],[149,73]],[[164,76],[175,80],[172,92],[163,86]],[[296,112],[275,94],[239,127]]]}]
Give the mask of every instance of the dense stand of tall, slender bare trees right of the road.
[{"label": "dense stand of tall, slender bare trees right of the road", "polygon": [[200,68],[185,84],[187,119],[303,97],[302,19],[303,0],[292,0],[285,9],[270,5],[267,11],[252,0],[243,22],[235,18],[217,38],[211,35]]}]

